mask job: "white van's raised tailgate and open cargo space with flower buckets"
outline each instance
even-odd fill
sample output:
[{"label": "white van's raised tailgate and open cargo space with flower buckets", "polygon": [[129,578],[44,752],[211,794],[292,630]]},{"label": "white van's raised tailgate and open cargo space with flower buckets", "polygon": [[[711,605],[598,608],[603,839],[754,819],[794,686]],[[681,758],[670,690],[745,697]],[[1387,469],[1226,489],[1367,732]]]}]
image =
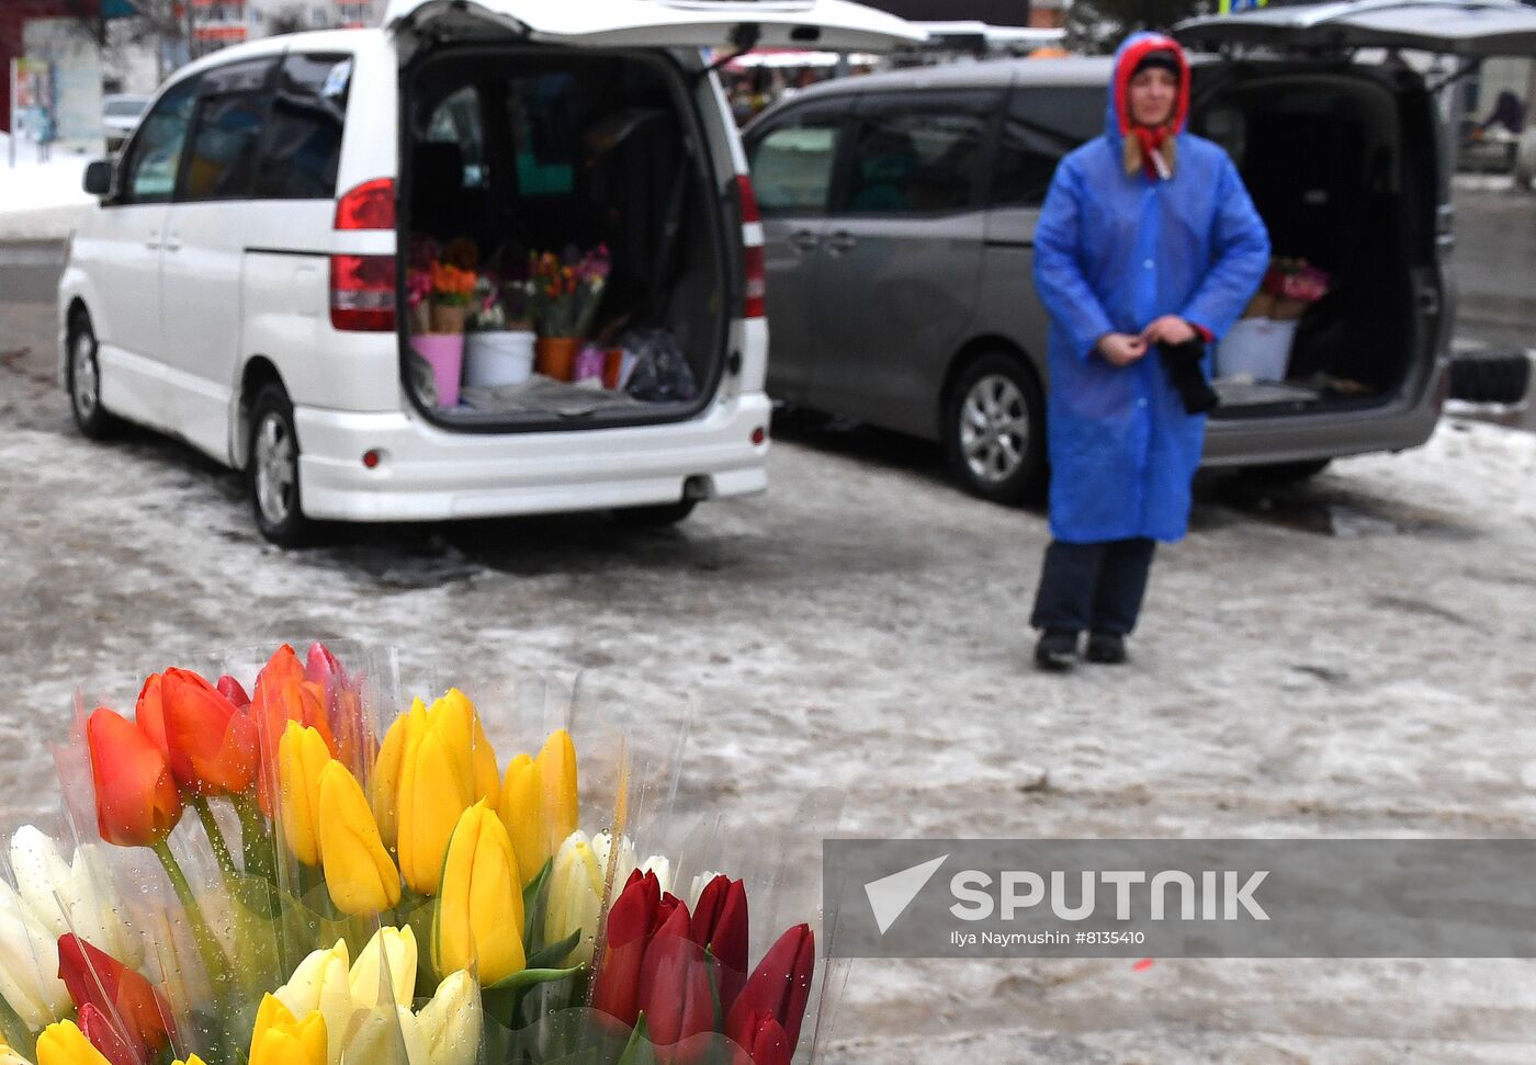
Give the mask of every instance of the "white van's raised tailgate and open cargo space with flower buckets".
[{"label": "white van's raised tailgate and open cargo space with flower buckets", "polygon": [[717,393],[746,250],[699,49],[923,37],[843,0],[393,0],[386,26],[404,63],[404,379],[468,431],[680,420]]}]

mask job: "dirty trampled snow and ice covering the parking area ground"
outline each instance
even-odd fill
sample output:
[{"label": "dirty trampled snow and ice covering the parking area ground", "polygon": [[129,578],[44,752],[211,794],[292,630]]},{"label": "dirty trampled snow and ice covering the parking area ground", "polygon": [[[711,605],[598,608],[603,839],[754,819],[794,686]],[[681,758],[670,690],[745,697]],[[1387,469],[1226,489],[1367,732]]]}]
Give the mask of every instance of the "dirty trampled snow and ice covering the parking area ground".
[{"label": "dirty trampled snow and ice covering the parking area ground", "polygon": [[[0,307],[0,336],[48,315]],[[9,818],[46,809],[77,684],[126,704],[209,649],[352,637],[482,689],[585,669],[662,723],[693,698],[688,810],[788,821],[829,784],[859,835],[1536,832],[1536,436],[1448,422],[1303,488],[1204,485],[1135,664],[1055,678],[1026,664],[1041,516],[879,434],[782,440],[768,496],[679,531],[487,522],[284,554],[233,476],[75,436],[51,373],[46,348],[0,356]],[[860,962],[834,1036],[840,1065],[1530,1062],[1536,965]]]}]

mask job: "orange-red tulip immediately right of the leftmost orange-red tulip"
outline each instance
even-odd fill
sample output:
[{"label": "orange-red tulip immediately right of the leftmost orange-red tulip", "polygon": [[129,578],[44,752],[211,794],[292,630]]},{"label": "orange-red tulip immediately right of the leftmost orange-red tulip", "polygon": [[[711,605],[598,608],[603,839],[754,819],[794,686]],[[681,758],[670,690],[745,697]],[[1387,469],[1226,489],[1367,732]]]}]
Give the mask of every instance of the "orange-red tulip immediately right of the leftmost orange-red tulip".
[{"label": "orange-red tulip immediately right of the leftmost orange-red tulip", "polygon": [[257,775],[257,726],[190,669],[160,678],[170,772],[200,795],[240,795]]}]

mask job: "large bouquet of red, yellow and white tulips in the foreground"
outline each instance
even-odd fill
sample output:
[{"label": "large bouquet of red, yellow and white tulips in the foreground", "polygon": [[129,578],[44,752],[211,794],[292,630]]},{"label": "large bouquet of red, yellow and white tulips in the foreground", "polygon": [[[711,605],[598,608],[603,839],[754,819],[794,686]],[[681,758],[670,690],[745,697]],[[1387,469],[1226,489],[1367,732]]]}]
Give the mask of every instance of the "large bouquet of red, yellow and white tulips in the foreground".
[{"label": "large bouquet of red, yellow and white tulips in the foreground", "polygon": [[811,925],[754,965],[743,879],[641,861],[622,737],[588,835],[568,729],[502,766],[464,692],[381,687],[284,645],[80,706],[74,847],[0,879],[0,1065],[788,1065]]}]

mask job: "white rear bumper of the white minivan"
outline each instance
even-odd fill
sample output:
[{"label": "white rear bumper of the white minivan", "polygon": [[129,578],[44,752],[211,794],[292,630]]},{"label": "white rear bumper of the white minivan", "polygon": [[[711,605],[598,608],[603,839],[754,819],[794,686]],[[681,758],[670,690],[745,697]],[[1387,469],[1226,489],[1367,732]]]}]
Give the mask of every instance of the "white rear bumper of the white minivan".
[{"label": "white rear bumper of the white minivan", "polygon": [[321,520],[415,522],[674,503],[690,477],[705,499],[746,496],[768,486],[768,440],[753,433],[770,414],[759,391],[667,425],[478,434],[300,407],[300,500]]}]

